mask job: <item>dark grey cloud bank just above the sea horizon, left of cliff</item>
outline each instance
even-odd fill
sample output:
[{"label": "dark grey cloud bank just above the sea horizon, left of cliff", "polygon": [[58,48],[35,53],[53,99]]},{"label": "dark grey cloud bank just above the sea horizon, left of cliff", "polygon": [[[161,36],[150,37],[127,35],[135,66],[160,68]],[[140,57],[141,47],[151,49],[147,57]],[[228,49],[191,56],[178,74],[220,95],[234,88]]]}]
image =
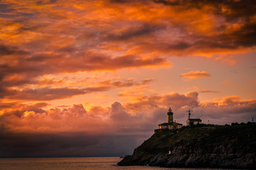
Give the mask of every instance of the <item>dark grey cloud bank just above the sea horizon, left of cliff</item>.
[{"label": "dark grey cloud bank just above the sea horizon, left of cliff", "polygon": [[118,157],[132,154],[148,135],[82,133],[0,134],[0,157]]}]

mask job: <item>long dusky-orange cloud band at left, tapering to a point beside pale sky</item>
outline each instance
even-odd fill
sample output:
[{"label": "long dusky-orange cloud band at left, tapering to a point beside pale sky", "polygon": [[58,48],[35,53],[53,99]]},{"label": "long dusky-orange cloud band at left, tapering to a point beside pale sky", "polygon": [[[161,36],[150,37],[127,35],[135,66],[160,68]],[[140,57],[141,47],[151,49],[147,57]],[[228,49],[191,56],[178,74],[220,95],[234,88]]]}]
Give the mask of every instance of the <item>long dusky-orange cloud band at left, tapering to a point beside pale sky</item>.
[{"label": "long dusky-orange cloud band at left, tapering to a point beside pale sky", "polygon": [[46,55],[40,58],[33,58],[33,60],[31,57],[27,60],[11,60],[11,58],[9,59],[9,57],[6,56],[3,57],[5,64],[1,65],[1,76],[6,79],[7,84],[11,84],[12,79],[9,77],[14,77],[14,75],[16,75],[16,77],[22,77],[25,80],[29,78],[33,80],[33,78],[43,74],[55,74],[60,72],[114,70],[129,67],[151,67],[156,64],[168,66],[169,64],[163,57],[142,59],[137,56],[126,55],[110,58],[110,56],[104,56],[94,52],[87,52],[82,56],[72,58],[64,57],[62,60],[59,60],[59,57],[60,56]]}]

